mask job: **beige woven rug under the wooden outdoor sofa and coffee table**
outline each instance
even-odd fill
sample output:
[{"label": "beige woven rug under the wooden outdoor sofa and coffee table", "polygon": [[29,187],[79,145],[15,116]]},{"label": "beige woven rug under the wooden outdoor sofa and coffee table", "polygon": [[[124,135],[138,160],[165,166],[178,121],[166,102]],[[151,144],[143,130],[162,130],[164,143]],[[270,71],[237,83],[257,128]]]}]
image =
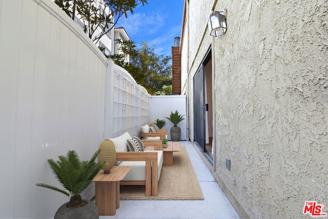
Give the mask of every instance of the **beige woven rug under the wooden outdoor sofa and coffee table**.
[{"label": "beige woven rug under the wooden outdoor sofa and coffee table", "polygon": [[120,200],[203,200],[194,168],[185,147],[173,152],[173,165],[163,166],[158,196],[146,196],[145,186],[120,186]]}]

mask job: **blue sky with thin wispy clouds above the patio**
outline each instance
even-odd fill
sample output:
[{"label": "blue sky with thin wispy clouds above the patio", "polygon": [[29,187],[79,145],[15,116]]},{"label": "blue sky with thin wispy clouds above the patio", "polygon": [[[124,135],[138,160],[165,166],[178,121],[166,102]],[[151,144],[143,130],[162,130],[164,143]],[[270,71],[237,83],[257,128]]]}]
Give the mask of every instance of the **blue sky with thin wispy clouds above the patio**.
[{"label": "blue sky with thin wispy clouds above the patio", "polygon": [[128,18],[119,18],[115,27],[124,27],[137,48],[147,41],[155,45],[158,55],[172,55],[174,37],[181,34],[183,0],[148,0],[139,5]]}]

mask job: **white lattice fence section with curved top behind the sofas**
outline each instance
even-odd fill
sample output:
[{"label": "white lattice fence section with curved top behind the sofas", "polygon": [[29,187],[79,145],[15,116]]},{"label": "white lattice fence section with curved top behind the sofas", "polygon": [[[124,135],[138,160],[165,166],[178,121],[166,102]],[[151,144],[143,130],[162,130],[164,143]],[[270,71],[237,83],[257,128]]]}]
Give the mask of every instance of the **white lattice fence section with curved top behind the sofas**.
[{"label": "white lattice fence section with curved top behind the sofas", "polygon": [[150,122],[150,94],[123,68],[109,60],[106,91],[105,138],[140,132]]}]

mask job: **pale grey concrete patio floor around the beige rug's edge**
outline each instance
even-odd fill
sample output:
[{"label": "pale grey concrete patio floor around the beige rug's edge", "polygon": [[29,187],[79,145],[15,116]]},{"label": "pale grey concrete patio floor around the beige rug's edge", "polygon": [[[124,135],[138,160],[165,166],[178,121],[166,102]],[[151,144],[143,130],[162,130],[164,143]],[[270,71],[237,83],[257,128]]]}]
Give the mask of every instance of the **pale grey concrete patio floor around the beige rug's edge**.
[{"label": "pale grey concrete patio floor around the beige rug's edge", "polygon": [[240,218],[211,171],[189,141],[181,141],[194,167],[204,200],[122,200],[114,216],[107,218]]}]

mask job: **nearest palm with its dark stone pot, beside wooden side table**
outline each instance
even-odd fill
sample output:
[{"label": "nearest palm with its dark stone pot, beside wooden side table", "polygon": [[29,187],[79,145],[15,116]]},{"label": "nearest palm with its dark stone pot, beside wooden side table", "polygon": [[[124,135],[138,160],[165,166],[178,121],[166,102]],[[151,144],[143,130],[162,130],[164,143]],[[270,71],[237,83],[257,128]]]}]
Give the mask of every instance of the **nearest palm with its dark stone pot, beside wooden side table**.
[{"label": "nearest palm with its dark stone pot, beside wooden side table", "polygon": [[58,156],[58,161],[48,159],[48,164],[61,185],[68,191],[57,187],[37,183],[61,192],[70,197],[70,201],[60,206],[54,218],[99,218],[97,206],[92,201],[82,200],[81,192],[87,188],[106,162],[95,163],[100,150],[96,151],[90,161],[80,161],[74,150],[66,156]]}]

